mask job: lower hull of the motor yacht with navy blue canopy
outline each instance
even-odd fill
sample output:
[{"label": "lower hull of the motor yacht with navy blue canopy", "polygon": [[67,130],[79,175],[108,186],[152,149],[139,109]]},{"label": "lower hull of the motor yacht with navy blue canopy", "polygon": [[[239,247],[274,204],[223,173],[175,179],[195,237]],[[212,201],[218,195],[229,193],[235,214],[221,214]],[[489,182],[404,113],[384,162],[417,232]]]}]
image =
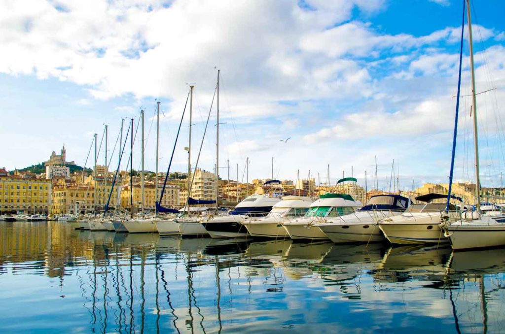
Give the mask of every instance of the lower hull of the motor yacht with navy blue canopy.
[{"label": "lower hull of the motor yacht with navy blue canopy", "polygon": [[319,228],[335,244],[383,242],[386,240],[377,224],[328,224],[319,226]]}]

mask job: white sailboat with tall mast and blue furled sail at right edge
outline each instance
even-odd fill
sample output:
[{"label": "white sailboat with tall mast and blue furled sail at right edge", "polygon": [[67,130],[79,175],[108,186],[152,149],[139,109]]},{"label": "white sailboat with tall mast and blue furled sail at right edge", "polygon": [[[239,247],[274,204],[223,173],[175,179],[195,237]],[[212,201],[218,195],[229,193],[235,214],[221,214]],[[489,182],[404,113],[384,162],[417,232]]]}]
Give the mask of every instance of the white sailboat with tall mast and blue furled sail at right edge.
[{"label": "white sailboat with tall mast and blue furled sail at right edge", "polygon": [[[465,4],[465,3],[464,3]],[[470,45],[470,69],[472,77],[472,100],[473,100],[473,131],[474,131],[474,149],[475,149],[475,184],[476,184],[476,210],[465,212],[461,219],[452,222],[442,222],[445,237],[449,238],[450,244],[454,250],[464,250],[473,248],[495,247],[505,245],[505,224],[503,224],[502,215],[484,215],[480,209],[480,175],[479,175],[479,143],[477,131],[477,98],[475,90],[475,68],[474,52],[472,40],[472,19],[470,0],[466,0],[468,17],[468,40]],[[465,10],[465,5],[463,7]],[[464,16],[463,16],[464,21]],[[464,24],[463,24],[464,26]],[[461,32],[461,50],[460,50],[460,79],[458,82],[458,100],[457,112],[460,98],[461,86],[461,60],[463,55],[463,28]],[[456,146],[457,121],[455,123],[455,138],[452,149],[451,178],[453,172],[453,159]],[[449,182],[449,185],[451,182]]]}]

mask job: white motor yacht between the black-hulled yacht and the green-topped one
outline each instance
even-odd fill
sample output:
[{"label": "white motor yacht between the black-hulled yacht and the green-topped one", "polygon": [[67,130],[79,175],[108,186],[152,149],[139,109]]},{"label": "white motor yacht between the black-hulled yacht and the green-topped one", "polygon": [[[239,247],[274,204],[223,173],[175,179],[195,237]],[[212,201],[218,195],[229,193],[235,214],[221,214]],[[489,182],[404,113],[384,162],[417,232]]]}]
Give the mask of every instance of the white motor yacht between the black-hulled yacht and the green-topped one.
[{"label": "white motor yacht between the black-hulled yacht and the green-topped one", "polygon": [[252,237],[286,238],[289,235],[282,227],[282,223],[304,216],[312,202],[310,197],[284,196],[272,207],[267,216],[245,219],[242,224]]}]

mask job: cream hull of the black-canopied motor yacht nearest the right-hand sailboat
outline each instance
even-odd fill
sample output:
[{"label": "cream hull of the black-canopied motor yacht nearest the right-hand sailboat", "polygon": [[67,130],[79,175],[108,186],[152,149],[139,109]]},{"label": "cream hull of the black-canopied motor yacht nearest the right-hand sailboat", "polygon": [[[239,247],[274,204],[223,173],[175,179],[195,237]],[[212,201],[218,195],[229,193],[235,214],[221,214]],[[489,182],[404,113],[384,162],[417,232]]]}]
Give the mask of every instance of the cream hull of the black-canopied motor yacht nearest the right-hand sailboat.
[{"label": "cream hull of the black-canopied motor yacht nearest the right-hand sailboat", "polygon": [[420,245],[449,242],[449,240],[444,237],[444,233],[437,222],[419,224],[379,224],[379,228],[384,233],[386,239],[392,244]]}]

